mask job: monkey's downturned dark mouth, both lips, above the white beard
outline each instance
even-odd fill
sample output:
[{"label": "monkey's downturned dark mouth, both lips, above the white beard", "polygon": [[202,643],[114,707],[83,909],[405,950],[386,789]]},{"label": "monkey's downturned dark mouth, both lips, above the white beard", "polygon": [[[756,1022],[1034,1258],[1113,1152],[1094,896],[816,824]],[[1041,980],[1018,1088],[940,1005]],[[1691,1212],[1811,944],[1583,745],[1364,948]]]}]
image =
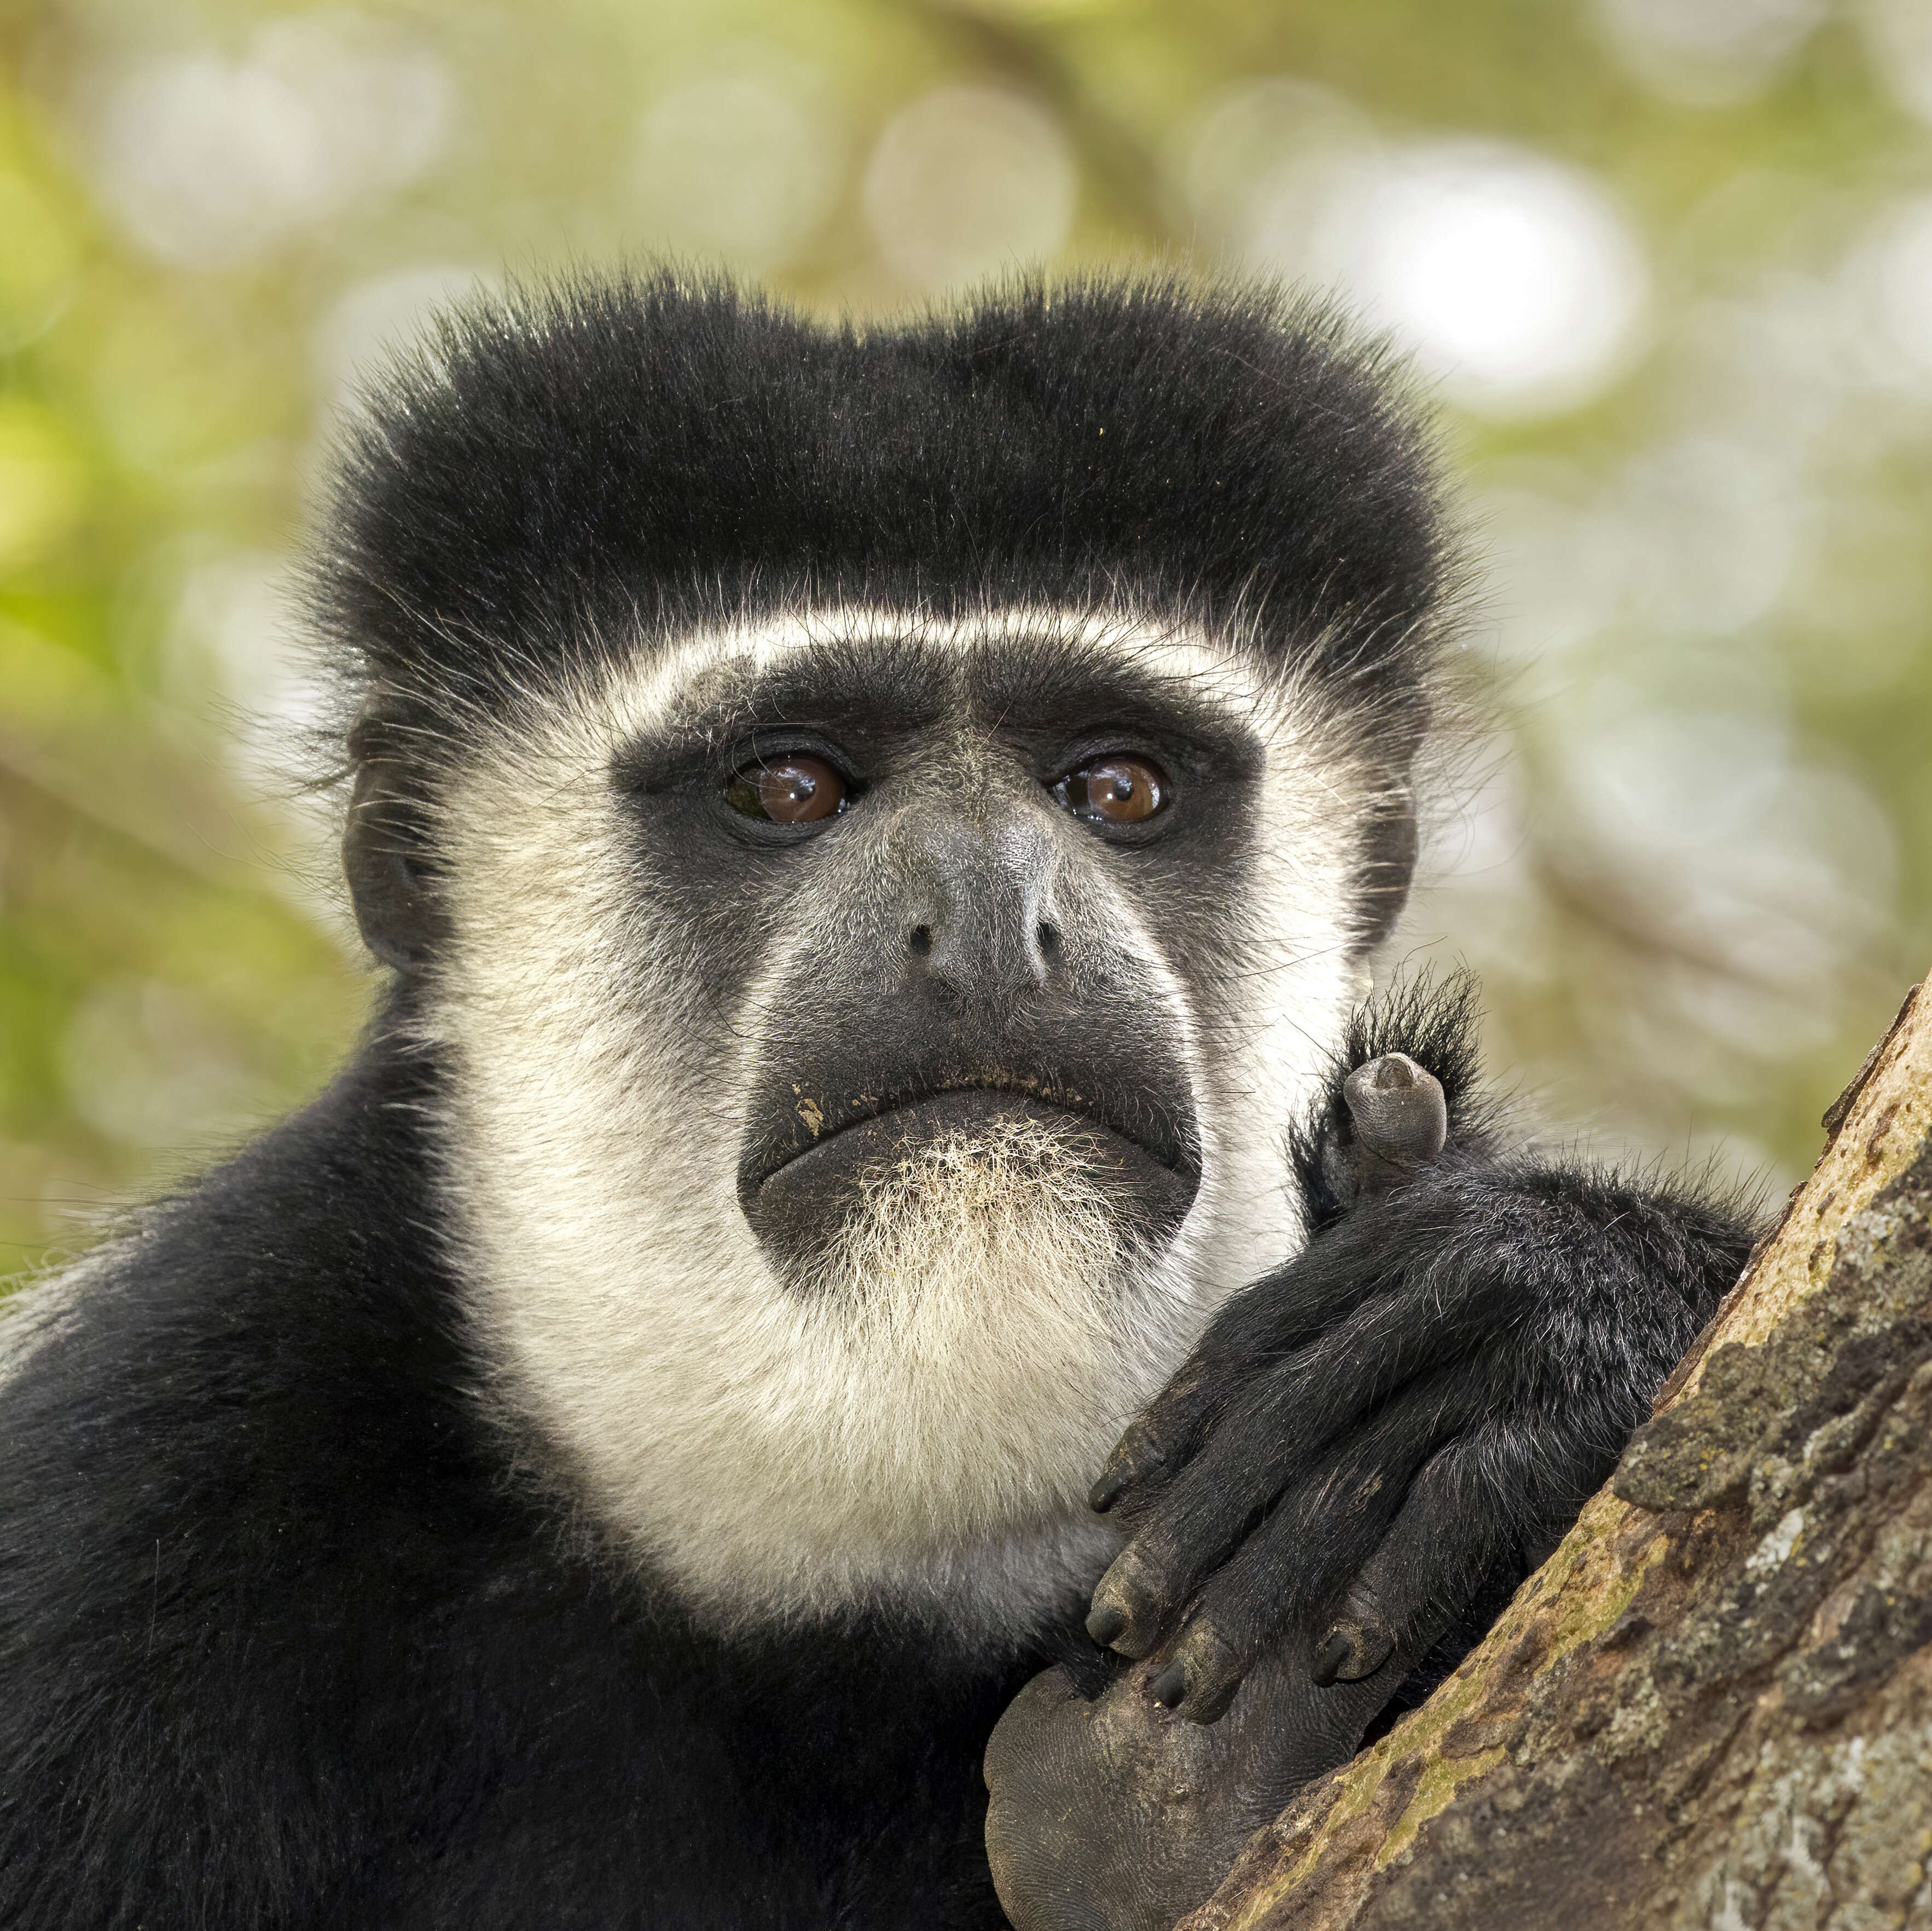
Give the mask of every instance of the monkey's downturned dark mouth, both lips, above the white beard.
[{"label": "monkey's downturned dark mouth, both lips, above the white beard", "polygon": [[775,1257],[796,1257],[844,1222],[875,1176],[945,1141],[997,1145],[1010,1128],[1036,1143],[1047,1135],[1119,1218],[1161,1240],[1200,1189],[1192,1118],[1146,1095],[1136,1095],[1138,1105],[1124,1099],[997,1076],[856,1095],[831,1112],[800,1093],[781,1130],[746,1145],[738,1201]]}]

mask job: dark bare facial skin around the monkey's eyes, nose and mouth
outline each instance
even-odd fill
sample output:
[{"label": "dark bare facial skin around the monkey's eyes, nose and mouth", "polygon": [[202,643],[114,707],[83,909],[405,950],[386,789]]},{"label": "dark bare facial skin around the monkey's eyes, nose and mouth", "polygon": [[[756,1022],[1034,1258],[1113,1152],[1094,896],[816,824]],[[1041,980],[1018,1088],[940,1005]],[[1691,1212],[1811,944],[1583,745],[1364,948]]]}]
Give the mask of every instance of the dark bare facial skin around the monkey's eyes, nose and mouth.
[{"label": "dark bare facial skin around the monkey's eyes, nose and mouth", "polygon": [[1159,680],[1026,647],[827,649],[628,747],[651,890],[703,927],[719,1006],[788,958],[738,1174],[781,1278],[811,1276],[867,1172],[999,1120],[1074,1147],[1124,1232],[1175,1232],[1198,1097],[1121,908],[1211,1006],[1256,774],[1244,728]]}]

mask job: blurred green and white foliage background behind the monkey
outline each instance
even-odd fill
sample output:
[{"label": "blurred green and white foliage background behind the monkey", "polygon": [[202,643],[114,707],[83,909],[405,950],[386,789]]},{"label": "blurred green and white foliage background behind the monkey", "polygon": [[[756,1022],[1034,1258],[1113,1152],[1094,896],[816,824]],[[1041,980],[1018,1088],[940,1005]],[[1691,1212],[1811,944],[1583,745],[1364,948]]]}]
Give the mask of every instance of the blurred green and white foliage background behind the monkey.
[{"label": "blurred green and white foliage background behind the monkey", "polygon": [[1341,290],[1484,558],[1395,956],[1548,1120],[1810,1166],[1932,964],[1932,0],[0,0],[0,1273],[359,1023],[282,587],[357,371],[657,249]]}]

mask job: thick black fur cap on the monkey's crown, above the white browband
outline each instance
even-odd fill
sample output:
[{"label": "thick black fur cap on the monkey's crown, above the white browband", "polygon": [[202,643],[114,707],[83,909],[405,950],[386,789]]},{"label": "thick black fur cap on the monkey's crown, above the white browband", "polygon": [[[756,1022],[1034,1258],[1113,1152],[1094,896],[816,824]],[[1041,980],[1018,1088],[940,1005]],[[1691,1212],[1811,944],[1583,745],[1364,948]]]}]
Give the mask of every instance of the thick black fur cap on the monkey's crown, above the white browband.
[{"label": "thick black fur cap on the monkey's crown, above the white browband", "polygon": [[[1459,575],[1399,367],[1265,288],[1032,282],[817,326],[670,272],[481,297],[367,398],[309,568],[357,799],[363,937],[419,964],[415,826],[479,716],[568,666],[802,602],[1198,622],[1333,697],[1381,794],[1350,906],[1387,937]],[[417,890],[377,923],[379,871]],[[427,937],[425,937],[427,935]]]}]

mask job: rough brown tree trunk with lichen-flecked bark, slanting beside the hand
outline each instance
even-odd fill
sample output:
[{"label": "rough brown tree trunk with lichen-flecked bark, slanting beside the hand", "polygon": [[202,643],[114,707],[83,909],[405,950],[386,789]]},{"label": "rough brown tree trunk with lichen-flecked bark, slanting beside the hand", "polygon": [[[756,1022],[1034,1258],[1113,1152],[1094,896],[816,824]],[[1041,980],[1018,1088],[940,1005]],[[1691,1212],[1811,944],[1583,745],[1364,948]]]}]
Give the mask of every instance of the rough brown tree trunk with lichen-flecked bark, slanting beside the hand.
[{"label": "rough brown tree trunk with lichen-flecked bark, slanting beside the hand", "polygon": [[1184,1931],[1932,1931],[1932,983],[1551,1560]]}]

